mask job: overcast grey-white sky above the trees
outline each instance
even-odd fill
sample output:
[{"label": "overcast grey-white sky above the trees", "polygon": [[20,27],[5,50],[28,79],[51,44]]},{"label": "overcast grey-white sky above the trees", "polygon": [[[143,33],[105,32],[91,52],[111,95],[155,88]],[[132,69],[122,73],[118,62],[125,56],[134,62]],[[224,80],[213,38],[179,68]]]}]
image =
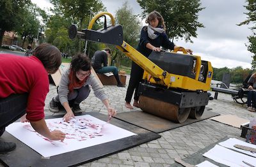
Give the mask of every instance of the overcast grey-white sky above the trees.
[{"label": "overcast grey-white sky above the trees", "polygon": [[[49,0],[32,0],[41,8],[51,7]],[[125,0],[102,0],[109,13],[115,15],[115,11],[122,7]],[[204,10],[200,11],[198,21],[205,28],[197,31],[197,38],[192,38],[194,43],[175,41],[175,44],[185,48],[191,48],[194,55],[200,55],[201,59],[211,61],[214,68],[234,68],[242,66],[251,68],[252,53],[248,52],[245,43],[247,36],[252,34],[248,26],[238,26],[246,19],[245,0],[201,0]],[[141,14],[142,10],[136,0],[129,0],[129,6],[134,14]],[[145,24],[145,23],[143,23]]]}]

